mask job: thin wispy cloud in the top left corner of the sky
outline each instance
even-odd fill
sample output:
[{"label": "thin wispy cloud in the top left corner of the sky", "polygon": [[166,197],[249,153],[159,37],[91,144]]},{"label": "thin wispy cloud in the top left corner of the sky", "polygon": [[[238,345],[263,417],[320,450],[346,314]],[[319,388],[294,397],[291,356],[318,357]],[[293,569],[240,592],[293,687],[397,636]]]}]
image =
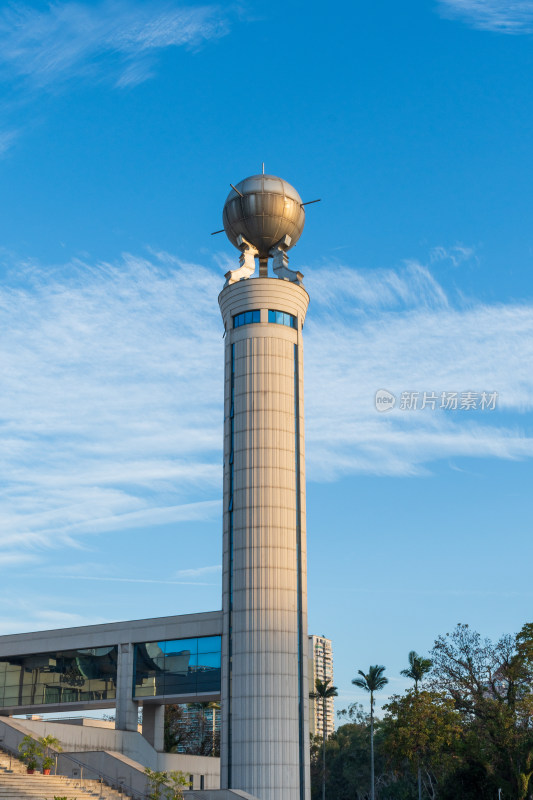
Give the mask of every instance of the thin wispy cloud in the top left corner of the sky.
[{"label": "thin wispy cloud in the top left corner of the sky", "polygon": [[227,33],[215,5],[165,2],[56,2],[44,10],[10,4],[0,14],[0,74],[34,86],[108,79],[117,86],[146,80],[157,51],[198,47]]}]

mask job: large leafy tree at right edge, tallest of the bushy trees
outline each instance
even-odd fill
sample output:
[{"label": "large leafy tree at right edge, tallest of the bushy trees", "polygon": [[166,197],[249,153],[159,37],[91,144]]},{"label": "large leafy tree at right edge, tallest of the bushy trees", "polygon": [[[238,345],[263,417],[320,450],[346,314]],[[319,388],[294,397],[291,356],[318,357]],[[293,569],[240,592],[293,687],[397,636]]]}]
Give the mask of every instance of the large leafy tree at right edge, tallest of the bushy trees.
[{"label": "large leafy tree at right edge, tallest of the bushy trees", "polygon": [[493,643],[468,625],[458,625],[439,636],[431,652],[432,688],[451,698],[462,716],[458,779],[465,800],[497,796],[499,788],[513,800],[528,797],[533,775],[528,632],[524,626],[517,637],[506,635]]}]

